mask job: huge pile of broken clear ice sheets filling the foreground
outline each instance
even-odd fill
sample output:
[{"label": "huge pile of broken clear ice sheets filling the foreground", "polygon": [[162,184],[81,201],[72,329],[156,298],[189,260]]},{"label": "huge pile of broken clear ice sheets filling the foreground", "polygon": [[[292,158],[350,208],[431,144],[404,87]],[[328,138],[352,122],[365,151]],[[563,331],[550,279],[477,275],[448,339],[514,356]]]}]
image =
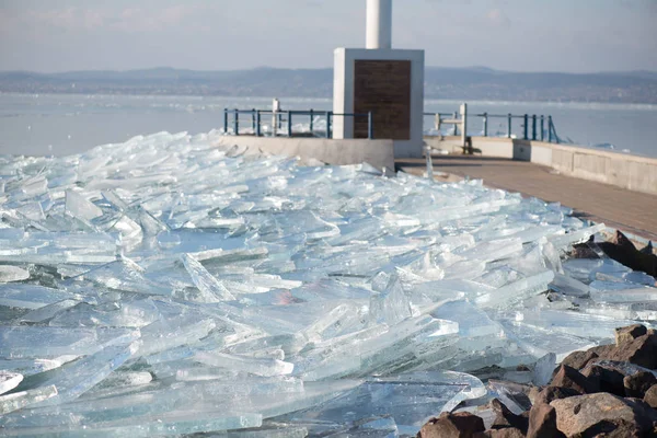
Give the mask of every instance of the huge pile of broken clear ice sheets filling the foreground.
[{"label": "huge pile of broken clear ice sheets filling the foreground", "polygon": [[0,158],[3,436],[413,435],[655,319],[560,205],[216,139]]}]

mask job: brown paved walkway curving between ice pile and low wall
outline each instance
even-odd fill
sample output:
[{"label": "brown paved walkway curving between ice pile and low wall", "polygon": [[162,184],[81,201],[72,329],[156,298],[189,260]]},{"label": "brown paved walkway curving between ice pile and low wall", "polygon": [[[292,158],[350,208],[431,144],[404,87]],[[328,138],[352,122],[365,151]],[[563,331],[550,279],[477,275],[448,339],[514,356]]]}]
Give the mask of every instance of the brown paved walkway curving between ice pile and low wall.
[{"label": "brown paved walkway curving between ice pile and low wall", "polygon": [[[397,169],[423,174],[424,159],[399,159]],[[545,201],[558,201],[580,218],[604,222],[644,239],[657,241],[657,196],[564,176],[551,168],[493,157],[443,155],[434,158],[437,180],[449,175],[484,180],[488,187],[519,192]],[[452,176],[453,178],[453,176]]]}]

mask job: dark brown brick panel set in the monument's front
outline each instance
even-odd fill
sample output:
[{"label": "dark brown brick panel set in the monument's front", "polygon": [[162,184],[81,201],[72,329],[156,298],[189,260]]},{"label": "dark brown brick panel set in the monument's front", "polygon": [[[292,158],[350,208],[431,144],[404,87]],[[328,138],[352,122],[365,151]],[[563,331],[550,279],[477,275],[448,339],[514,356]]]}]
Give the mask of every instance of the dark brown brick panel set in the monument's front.
[{"label": "dark brown brick panel set in the monument's front", "polygon": [[[370,111],[374,138],[411,139],[411,61],[356,60],[354,113]],[[367,117],[356,117],[354,138],[367,135]]]}]

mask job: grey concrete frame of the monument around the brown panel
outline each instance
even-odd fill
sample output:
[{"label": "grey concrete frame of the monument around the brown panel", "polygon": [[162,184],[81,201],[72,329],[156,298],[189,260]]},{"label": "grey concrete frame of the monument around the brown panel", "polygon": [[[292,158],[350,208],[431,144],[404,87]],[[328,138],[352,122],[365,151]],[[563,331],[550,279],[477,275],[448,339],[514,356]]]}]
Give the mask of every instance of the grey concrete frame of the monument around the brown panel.
[{"label": "grey concrete frame of the monument around the brown panel", "polygon": [[[423,155],[424,124],[424,50],[337,48],[334,51],[333,112],[354,113],[354,70],[356,60],[410,60],[411,61],[411,139],[395,140],[397,158]],[[335,116],[334,138],[351,138],[354,118]],[[374,130],[374,138],[377,131]]]}]

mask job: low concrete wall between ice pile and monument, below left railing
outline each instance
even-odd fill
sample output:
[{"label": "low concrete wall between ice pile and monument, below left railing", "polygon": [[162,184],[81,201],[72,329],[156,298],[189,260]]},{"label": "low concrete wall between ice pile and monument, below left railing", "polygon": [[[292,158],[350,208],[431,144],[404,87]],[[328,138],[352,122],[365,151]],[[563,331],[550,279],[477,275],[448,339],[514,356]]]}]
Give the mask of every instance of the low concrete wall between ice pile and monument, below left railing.
[{"label": "low concrete wall between ice pile and monument, below left railing", "polygon": [[392,140],[226,136],[219,139],[217,146],[238,146],[247,153],[299,157],[302,164],[313,160],[337,165],[366,162],[377,169],[387,168],[389,174],[394,173]]}]

